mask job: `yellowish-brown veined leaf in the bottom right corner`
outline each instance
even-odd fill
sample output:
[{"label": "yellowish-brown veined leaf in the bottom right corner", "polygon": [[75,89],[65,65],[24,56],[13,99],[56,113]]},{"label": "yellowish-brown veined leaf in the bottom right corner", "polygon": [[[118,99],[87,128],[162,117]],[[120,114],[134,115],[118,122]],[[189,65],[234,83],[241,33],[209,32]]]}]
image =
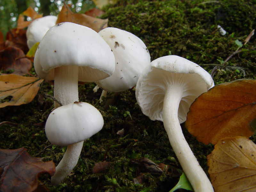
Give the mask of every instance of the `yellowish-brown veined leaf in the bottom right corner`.
[{"label": "yellowish-brown veined leaf in the bottom right corner", "polygon": [[207,159],[215,192],[256,191],[256,145],[251,140],[221,139]]}]

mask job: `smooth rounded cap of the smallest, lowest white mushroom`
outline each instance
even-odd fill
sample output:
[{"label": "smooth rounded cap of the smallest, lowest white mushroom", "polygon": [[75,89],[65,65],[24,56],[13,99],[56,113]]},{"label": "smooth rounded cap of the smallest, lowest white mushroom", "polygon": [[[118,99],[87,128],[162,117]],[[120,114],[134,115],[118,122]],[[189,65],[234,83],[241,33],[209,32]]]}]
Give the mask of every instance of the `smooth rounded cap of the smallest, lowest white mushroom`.
[{"label": "smooth rounded cap of the smallest, lowest white mushroom", "polygon": [[45,133],[52,144],[68,146],[90,138],[102,129],[103,124],[98,109],[89,103],[75,102],[50,113]]}]

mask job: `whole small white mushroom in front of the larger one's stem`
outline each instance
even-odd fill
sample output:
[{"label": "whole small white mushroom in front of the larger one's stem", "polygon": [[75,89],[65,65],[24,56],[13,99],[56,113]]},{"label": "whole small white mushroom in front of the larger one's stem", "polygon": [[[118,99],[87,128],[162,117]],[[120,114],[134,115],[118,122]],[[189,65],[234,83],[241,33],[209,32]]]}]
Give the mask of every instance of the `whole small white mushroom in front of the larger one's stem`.
[{"label": "whole small white mushroom in front of the larger one's stem", "polygon": [[84,140],[101,130],[103,123],[100,112],[89,103],[70,103],[51,112],[45,124],[46,136],[54,145],[68,146],[52,176],[53,185],[65,179],[77,164],[81,148],[71,151],[70,148],[83,145]]}]

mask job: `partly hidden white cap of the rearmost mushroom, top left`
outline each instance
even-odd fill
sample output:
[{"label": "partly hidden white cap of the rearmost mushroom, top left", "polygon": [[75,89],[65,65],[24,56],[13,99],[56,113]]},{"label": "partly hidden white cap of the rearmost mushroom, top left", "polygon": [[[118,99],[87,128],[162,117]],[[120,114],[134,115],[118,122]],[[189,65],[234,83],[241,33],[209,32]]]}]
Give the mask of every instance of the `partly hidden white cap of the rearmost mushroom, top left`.
[{"label": "partly hidden white cap of the rearmost mushroom, top left", "polygon": [[30,49],[35,43],[40,42],[44,34],[56,24],[57,17],[48,15],[45,17],[33,20],[26,31],[27,45]]}]

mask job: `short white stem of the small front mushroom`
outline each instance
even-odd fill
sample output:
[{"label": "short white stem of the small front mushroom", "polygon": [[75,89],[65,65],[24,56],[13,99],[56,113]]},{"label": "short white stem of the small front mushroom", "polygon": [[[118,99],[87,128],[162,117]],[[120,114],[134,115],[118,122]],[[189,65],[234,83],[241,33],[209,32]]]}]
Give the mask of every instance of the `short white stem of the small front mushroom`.
[{"label": "short white stem of the small front mushroom", "polygon": [[83,143],[84,141],[81,141],[79,143],[68,145],[63,158],[56,167],[56,171],[51,178],[52,185],[58,185],[74,169],[80,156]]}]

